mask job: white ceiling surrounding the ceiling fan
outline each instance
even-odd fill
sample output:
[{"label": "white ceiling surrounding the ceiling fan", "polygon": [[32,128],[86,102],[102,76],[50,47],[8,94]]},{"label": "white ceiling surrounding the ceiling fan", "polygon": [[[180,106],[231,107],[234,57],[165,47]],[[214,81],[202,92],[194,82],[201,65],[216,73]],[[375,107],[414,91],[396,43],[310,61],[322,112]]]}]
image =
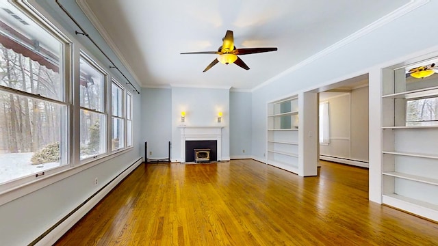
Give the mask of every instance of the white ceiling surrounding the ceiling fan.
[{"label": "white ceiling surrounding the ceiling fan", "polygon": [[[142,87],[251,90],[347,38],[409,0],[77,0]],[[278,47],[242,55],[250,67],[217,64],[227,29],[237,48]]]}]

